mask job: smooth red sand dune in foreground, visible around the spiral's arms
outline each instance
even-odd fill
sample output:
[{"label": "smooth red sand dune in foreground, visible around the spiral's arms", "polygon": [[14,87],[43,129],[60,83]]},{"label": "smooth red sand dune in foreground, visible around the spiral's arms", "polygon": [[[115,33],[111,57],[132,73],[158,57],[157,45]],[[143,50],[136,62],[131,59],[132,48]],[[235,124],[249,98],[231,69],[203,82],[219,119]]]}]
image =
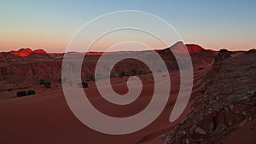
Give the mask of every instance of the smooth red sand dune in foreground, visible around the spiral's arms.
[{"label": "smooth red sand dune in foreground, visible around the spiral's arms", "polygon": [[[195,79],[201,78],[201,73],[195,73]],[[172,72],[172,93],[171,99],[161,113],[160,117],[150,124],[147,128],[130,135],[104,135],[102,133],[90,130],[90,128],[81,124],[74,117],[65,101],[65,97],[61,89],[49,89],[37,87],[38,94],[21,98],[0,101],[0,135],[2,135],[1,143],[138,143],[143,141],[151,141],[155,136],[162,132],[172,129],[168,119],[172,112],[173,103],[177,96],[179,85],[178,73]],[[145,76],[146,77],[146,76]],[[147,77],[146,77],[147,78]],[[118,80],[117,80],[118,81]],[[113,115],[132,115],[134,112],[140,112],[150,101],[150,92],[154,88],[152,81],[146,80],[144,84],[143,96],[131,108],[123,107],[116,109],[114,107],[106,107],[104,101],[99,95],[91,98],[92,103],[96,103],[96,107],[103,112],[110,112]],[[90,84],[93,85],[93,84]],[[198,84],[195,84],[195,92]],[[60,87],[60,84],[58,84]],[[113,89],[119,92],[125,90],[125,82],[113,84]],[[40,92],[41,90],[41,92]],[[86,89],[90,94],[96,94],[96,87]],[[193,97],[192,97],[193,100]],[[96,101],[96,102],[95,102]],[[107,105],[108,106],[108,105]],[[90,116],[89,116],[90,117]],[[155,140],[154,140],[155,141]]]}]

